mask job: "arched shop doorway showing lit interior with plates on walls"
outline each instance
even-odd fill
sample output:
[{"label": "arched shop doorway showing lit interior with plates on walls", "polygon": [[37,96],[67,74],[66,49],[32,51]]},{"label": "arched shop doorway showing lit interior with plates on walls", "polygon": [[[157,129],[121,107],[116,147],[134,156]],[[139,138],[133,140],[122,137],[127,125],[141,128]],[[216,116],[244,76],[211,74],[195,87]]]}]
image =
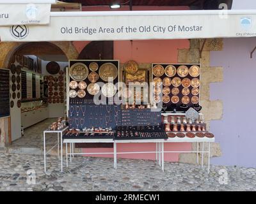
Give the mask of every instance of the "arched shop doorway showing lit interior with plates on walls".
[{"label": "arched shop doorway showing lit interior with plates on walls", "polygon": [[67,56],[52,43],[24,43],[13,52],[8,62],[11,149],[40,152],[44,129],[65,116],[67,66]]}]

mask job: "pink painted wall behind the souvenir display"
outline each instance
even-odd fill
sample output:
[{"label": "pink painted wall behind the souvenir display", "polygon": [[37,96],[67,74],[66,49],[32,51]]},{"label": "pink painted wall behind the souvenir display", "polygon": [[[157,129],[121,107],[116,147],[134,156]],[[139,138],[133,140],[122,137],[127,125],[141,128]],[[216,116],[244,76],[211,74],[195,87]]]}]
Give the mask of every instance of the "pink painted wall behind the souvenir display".
[{"label": "pink painted wall behind the souvenir display", "polygon": [[[157,6],[134,6],[133,10],[188,10],[186,6],[182,7],[157,7]],[[109,7],[87,7],[83,11],[108,11]],[[129,7],[123,6],[120,10],[129,10]],[[73,42],[78,52],[88,44],[88,41]],[[114,41],[114,59],[120,60],[120,63],[134,60],[139,63],[177,63],[178,50],[189,48],[189,40],[134,40],[134,41]],[[190,143],[166,143],[165,150],[191,150]],[[118,152],[143,152],[156,150],[154,143],[126,143],[117,145]],[[113,149],[84,149],[83,152],[113,152]],[[89,156],[89,155],[88,155]],[[94,155],[95,157],[113,157],[109,154]],[[129,159],[152,159],[156,154],[121,154],[118,157]],[[165,161],[179,161],[179,154],[165,154]]]}]

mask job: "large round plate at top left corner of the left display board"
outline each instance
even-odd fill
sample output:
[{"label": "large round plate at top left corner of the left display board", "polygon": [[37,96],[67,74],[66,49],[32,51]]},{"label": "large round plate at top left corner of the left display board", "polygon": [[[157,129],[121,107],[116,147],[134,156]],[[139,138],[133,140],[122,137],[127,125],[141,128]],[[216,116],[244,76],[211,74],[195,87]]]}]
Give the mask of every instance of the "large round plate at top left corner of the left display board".
[{"label": "large round plate at top left corner of the left display board", "polygon": [[88,73],[88,67],[81,62],[77,62],[70,67],[70,77],[73,80],[81,82],[87,78]]}]

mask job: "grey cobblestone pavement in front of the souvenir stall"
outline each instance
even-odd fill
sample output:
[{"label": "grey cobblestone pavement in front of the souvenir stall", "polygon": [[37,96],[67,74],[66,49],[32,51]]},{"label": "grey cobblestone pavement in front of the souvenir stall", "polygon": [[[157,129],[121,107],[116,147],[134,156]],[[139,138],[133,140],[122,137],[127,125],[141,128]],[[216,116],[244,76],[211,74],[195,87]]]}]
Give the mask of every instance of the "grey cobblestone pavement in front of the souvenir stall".
[{"label": "grey cobblestone pavement in front of the souvenir stall", "polygon": [[[60,172],[58,157],[0,154],[0,191],[255,191],[256,169],[211,166],[201,170],[193,164],[164,163],[164,173],[154,161],[75,157]],[[227,184],[219,182],[227,170]],[[27,173],[35,170],[36,184]],[[33,172],[32,172],[33,173]],[[223,177],[223,175],[222,175]],[[31,180],[29,180],[31,181]]]}]

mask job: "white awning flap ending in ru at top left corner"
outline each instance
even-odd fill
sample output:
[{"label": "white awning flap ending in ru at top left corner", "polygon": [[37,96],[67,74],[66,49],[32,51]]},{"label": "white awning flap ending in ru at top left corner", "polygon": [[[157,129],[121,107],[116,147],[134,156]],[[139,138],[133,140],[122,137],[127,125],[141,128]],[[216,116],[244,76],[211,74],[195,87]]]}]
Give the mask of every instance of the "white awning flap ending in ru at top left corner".
[{"label": "white awning flap ending in ru at top left corner", "polygon": [[50,15],[51,4],[0,4],[0,26],[45,25]]}]

